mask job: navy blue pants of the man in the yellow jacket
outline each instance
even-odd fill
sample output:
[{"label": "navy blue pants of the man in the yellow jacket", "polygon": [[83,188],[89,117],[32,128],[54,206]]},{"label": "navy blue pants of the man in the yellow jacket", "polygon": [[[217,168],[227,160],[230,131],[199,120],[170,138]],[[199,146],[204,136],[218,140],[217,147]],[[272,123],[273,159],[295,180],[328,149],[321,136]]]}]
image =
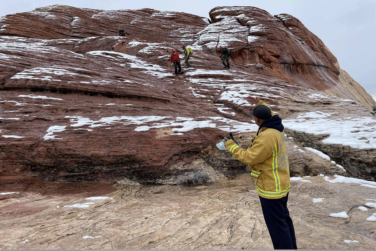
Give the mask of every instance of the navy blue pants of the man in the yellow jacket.
[{"label": "navy blue pants of the man in the yellow jacket", "polygon": [[280,199],[259,198],[274,249],[297,249],[293,220],[287,209],[288,193]]}]

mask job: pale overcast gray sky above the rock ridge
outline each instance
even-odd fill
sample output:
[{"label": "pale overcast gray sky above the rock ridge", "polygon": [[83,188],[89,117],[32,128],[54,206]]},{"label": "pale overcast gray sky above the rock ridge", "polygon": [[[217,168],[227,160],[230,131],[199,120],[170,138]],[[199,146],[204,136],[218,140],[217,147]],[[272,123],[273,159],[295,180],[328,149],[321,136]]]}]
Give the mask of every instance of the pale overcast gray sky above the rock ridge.
[{"label": "pale overcast gray sky above the rock ridge", "polygon": [[255,6],[271,15],[288,13],[315,33],[337,57],[340,67],[361,84],[376,100],[375,0],[1,0],[0,16],[33,10],[35,7],[64,4],[92,9],[152,8],[188,12],[209,17],[216,6]]}]

